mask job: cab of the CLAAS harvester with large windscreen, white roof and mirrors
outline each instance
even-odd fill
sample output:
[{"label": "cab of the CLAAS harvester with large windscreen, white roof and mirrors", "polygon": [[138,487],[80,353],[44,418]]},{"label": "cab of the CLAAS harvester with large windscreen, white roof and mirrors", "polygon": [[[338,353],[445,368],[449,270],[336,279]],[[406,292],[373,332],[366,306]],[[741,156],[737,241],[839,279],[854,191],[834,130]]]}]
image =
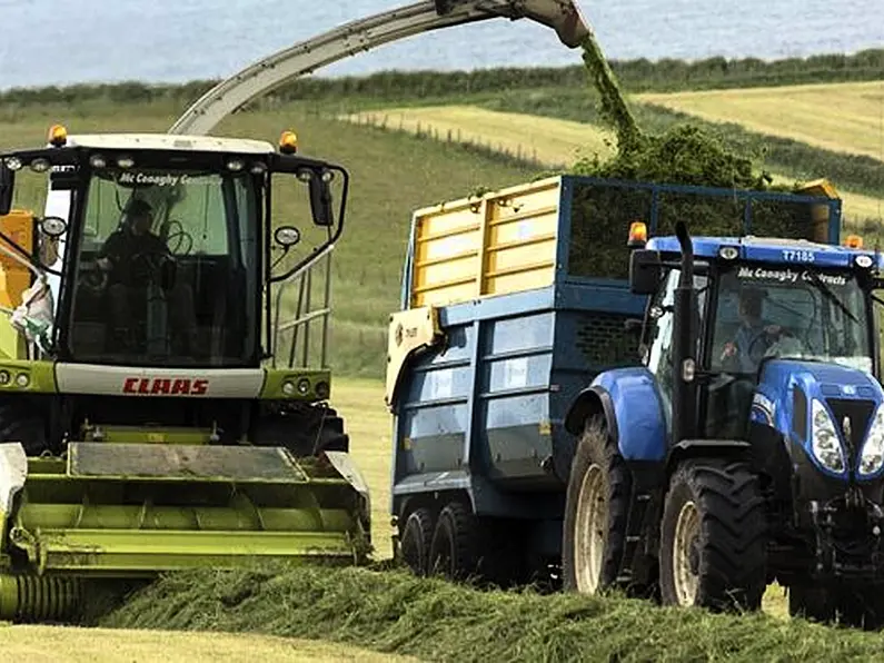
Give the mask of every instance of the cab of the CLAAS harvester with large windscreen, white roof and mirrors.
[{"label": "cab of the CLAAS harvester with large windscreen, white roof and mirrors", "polygon": [[[290,133],[276,151],[212,137],[68,137],[56,126],[46,148],[2,155],[0,216],[11,211],[17,179],[19,189],[34,176],[49,182],[47,216],[28,238],[34,246],[0,237],[42,275],[32,286],[51,300],[36,336],[42,352],[72,364],[260,365],[276,345],[270,284],[326,251],[341,228],[329,182],[346,172],[296,151]],[[288,180],[277,196],[301,189],[310,207],[298,211],[325,230],[312,254],[276,273],[302,230],[271,226],[275,174]]]}]

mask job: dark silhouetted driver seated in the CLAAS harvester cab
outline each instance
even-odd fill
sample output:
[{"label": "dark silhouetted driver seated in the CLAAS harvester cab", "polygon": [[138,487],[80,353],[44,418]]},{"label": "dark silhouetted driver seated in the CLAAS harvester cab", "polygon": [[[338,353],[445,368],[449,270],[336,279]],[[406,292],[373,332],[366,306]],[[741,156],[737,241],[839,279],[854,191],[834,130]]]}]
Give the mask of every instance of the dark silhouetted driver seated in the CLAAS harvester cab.
[{"label": "dark silhouetted driver seated in the CLAAS harvester cab", "polygon": [[[131,349],[133,345],[132,301],[147,289],[143,275],[145,264],[139,257],[155,258],[147,263],[153,274],[148,275],[155,280],[160,279],[161,264],[171,260],[166,244],[150,231],[153,224],[153,209],[146,200],[135,199],[130,202],[126,220],[115,230],[99,254],[98,267],[108,275],[108,297],[113,325],[113,337],[118,345]],[[190,354],[197,350],[196,318],[193,291],[189,284],[175,280],[166,290],[169,305],[169,318],[172,329],[181,334],[183,347],[181,352]]]}]

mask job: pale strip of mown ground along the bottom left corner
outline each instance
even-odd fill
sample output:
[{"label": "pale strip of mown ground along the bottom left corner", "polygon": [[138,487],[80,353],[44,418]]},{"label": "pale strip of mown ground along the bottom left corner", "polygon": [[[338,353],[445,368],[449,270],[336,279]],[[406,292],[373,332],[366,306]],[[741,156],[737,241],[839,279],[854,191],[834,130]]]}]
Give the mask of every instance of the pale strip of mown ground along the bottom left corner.
[{"label": "pale strip of mown ground along the bottom left corner", "polygon": [[346,644],[242,633],[0,626],[0,637],[3,639],[6,661],[29,663],[148,663],[160,657],[189,663],[415,661],[407,656],[379,654]]}]

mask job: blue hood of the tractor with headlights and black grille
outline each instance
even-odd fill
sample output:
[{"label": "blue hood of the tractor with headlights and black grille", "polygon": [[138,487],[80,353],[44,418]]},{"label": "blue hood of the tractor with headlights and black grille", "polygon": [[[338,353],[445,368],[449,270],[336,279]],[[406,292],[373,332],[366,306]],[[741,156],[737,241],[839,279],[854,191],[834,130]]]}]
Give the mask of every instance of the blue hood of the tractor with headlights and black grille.
[{"label": "blue hood of the tractor with headlights and black grille", "polygon": [[763,369],[752,419],[777,428],[820,472],[870,481],[884,472],[882,403],[884,389],[864,370],[774,359]]}]

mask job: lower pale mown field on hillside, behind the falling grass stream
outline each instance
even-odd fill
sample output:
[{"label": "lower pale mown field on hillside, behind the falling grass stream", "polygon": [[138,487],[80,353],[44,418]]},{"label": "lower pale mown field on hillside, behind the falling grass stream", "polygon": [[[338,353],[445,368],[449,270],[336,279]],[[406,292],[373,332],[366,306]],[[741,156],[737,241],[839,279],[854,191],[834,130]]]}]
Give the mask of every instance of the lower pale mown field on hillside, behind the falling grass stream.
[{"label": "lower pale mown field on hillside, behind the falling grass stream", "polygon": [[[345,117],[351,122],[386,127],[393,132],[420,131],[440,141],[454,136],[455,139],[460,137],[513,155],[535,155],[548,168],[572,164],[578,154],[597,154],[606,158],[613,152],[613,135],[596,125],[478,107],[399,107]],[[773,176],[775,182],[794,181],[781,174]],[[884,220],[884,200],[841,187],[838,192],[844,205],[844,218],[848,222]]]}]

